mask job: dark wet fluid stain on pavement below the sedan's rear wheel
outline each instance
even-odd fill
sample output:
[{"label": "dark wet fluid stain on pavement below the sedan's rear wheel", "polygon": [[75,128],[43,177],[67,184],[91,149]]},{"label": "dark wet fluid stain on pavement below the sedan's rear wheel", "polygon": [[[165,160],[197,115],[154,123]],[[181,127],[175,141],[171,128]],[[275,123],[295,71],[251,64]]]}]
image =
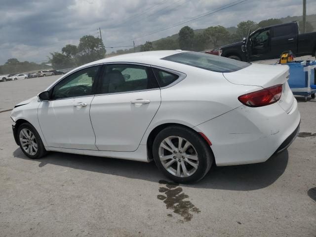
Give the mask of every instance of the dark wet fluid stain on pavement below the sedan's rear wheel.
[{"label": "dark wet fluid stain on pavement below the sedan's rear wheel", "polygon": [[181,215],[185,221],[191,221],[193,214],[201,212],[191,201],[184,200],[189,196],[183,193],[179,184],[160,180],[159,184],[165,187],[160,187],[159,192],[164,195],[158,195],[159,200],[163,200],[167,209],[173,209],[173,212]]}]

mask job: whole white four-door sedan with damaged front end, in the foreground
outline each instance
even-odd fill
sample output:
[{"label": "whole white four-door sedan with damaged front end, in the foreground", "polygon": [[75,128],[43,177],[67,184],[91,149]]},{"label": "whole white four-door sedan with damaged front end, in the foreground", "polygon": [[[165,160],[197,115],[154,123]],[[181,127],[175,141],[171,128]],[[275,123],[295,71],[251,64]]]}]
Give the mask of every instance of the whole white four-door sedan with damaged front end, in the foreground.
[{"label": "whole white four-door sedan with damaged front end, in the foreground", "polygon": [[287,66],[190,51],[120,55],[76,68],[16,105],[13,134],[29,158],[154,159],[175,182],[194,182],[214,162],[264,162],[291,144],[300,113],[288,77]]}]

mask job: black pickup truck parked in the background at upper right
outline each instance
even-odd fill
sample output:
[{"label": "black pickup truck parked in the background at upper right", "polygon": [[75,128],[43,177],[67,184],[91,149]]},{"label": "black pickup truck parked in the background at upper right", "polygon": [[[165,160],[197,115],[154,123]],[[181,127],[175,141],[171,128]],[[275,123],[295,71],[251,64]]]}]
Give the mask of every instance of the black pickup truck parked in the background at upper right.
[{"label": "black pickup truck parked in the background at upper right", "polygon": [[206,52],[241,61],[279,58],[291,50],[296,57],[316,56],[316,32],[300,34],[298,22],[259,28],[241,42],[228,44]]}]

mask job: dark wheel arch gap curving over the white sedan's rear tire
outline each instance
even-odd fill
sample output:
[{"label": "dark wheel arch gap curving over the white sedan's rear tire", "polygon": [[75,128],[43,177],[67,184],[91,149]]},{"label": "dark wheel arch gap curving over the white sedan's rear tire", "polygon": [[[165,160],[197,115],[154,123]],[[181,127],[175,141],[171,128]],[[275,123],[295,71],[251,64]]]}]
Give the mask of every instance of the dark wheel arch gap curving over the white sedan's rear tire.
[{"label": "dark wheel arch gap curving over the white sedan's rear tire", "polygon": [[[159,124],[158,126],[156,126],[154,129],[152,129],[152,131],[149,133],[149,136],[147,137],[146,146],[147,146],[147,154],[148,154],[149,160],[153,159],[153,143],[154,143],[156,136],[158,135],[158,133],[161,130],[163,130],[164,128],[169,127],[169,126],[179,126],[179,127],[190,129],[190,130],[196,132],[201,138],[203,138],[203,140],[205,141],[206,144],[208,143],[205,135],[203,133],[201,134],[200,132],[198,132],[197,130],[195,130],[192,127],[189,127],[189,126],[181,124],[181,123],[175,123],[175,122],[162,123],[162,124]],[[208,146],[208,147],[210,149],[210,152],[213,154],[211,147],[210,146]],[[214,154],[213,154],[213,156],[214,156]]]}]

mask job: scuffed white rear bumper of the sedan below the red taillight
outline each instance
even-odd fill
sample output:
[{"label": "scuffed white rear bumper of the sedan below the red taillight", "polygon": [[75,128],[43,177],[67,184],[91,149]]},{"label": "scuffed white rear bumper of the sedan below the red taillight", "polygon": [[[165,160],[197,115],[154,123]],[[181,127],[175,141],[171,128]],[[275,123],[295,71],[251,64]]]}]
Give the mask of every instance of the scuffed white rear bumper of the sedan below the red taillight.
[{"label": "scuffed white rear bumper of the sedan below the red taillight", "polygon": [[296,138],[300,120],[294,100],[288,114],[277,103],[258,108],[240,106],[194,128],[212,142],[218,166],[237,165],[264,162],[285,150]]}]

